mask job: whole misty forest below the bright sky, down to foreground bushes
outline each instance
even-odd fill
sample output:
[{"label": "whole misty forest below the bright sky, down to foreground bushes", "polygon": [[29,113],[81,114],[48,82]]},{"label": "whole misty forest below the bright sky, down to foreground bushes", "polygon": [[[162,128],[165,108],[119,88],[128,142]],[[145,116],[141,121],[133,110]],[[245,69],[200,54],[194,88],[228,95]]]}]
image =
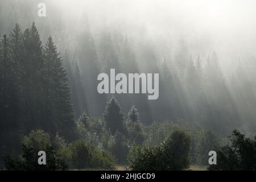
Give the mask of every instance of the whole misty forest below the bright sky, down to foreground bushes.
[{"label": "whole misty forest below the bright sky, down to foreground bushes", "polygon": [[[45,1],[40,18],[38,2],[0,1],[0,170],[256,169],[254,52],[227,69],[230,47],[219,56],[185,34],[151,36],[90,4],[67,18]],[[159,75],[158,97],[99,93],[98,75],[113,69]]]}]

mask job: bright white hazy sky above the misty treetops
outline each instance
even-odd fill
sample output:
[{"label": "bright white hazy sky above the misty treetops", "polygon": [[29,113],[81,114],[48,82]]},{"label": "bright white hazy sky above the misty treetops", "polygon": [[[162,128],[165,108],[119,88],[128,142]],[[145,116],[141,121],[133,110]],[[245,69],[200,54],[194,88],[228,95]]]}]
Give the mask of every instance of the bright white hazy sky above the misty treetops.
[{"label": "bright white hazy sky above the misty treetops", "polygon": [[255,55],[254,0],[53,0],[72,21],[88,16],[95,26],[122,28],[129,34],[170,40],[182,36],[193,56],[216,51],[222,65]]}]

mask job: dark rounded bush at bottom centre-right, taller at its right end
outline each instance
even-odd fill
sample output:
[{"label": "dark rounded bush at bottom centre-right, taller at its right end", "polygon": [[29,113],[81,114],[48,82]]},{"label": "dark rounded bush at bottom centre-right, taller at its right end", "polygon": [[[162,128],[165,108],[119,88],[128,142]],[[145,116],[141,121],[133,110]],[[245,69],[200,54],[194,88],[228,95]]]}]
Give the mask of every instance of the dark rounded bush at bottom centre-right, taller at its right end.
[{"label": "dark rounded bush at bottom centre-right, taller at its right end", "polygon": [[182,170],[189,166],[190,137],[174,131],[162,146],[133,147],[128,156],[132,170]]}]

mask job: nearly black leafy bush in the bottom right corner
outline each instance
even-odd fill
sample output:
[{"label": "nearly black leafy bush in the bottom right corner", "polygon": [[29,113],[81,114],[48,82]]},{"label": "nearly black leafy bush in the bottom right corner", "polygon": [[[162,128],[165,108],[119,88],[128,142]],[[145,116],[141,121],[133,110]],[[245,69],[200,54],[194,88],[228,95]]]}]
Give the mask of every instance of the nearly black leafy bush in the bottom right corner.
[{"label": "nearly black leafy bush in the bottom right corner", "polygon": [[229,137],[230,143],[217,150],[217,165],[209,170],[250,171],[256,170],[256,137],[246,138],[240,131],[234,130]]}]

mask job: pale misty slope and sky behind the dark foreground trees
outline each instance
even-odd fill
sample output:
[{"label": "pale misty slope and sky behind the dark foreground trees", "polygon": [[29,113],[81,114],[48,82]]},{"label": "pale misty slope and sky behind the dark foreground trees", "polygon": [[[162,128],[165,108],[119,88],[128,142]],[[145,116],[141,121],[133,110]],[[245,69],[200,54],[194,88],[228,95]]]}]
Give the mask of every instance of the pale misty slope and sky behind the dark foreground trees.
[{"label": "pale misty slope and sky behind the dark foreground trees", "polygon": [[[38,16],[38,3],[47,16]],[[74,117],[101,117],[97,75],[159,73],[159,99],[116,95],[142,123],[184,119],[221,135],[256,129],[255,1],[0,0],[0,35],[35,22],[67,69]]]}]

